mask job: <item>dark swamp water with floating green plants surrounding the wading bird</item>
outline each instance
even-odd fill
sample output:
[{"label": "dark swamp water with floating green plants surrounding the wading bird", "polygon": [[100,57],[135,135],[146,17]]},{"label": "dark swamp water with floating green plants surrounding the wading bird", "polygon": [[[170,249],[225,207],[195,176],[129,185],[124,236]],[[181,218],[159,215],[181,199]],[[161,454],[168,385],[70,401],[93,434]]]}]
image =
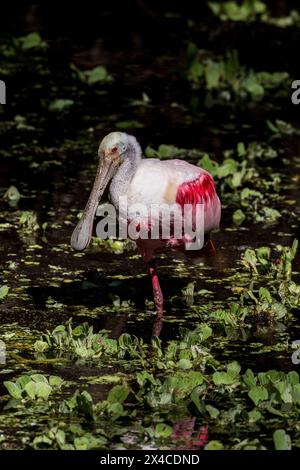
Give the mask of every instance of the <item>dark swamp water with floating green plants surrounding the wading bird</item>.
[{"label": "dark swamp water with floating green plants surrounding the wading bird", "polygon": [[[300,129],[295,68],[272,62],[274,44],[292,47],[283,28],[299,40],[299,13],[258,0],[206,7],[208,26],[162,16],[176,34],[151,67],[125,49],[109,60],[102,42],[1,33],[1,449],[300,447]],[[276,31],[268,43],[263,29],[263,66],[245,41],[232,45],[241,24]],[[161,256],[159,337],[132,242],[69,247],[98,140],[115,128],[146,158],[207,169],[222,200],[216,257]]]}]

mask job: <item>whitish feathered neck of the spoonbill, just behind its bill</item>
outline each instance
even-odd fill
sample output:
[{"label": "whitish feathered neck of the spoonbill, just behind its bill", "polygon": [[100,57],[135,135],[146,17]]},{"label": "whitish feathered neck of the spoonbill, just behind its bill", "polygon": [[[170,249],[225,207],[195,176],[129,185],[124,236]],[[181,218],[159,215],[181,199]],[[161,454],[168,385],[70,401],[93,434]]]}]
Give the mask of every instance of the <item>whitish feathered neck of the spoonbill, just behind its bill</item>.
[{"label": "whitish feathered neck of the spoonbill, just behind its bill", "polygon": [[130,139],[126,154],[122,158],[124,161],[113,177],[109,188],[110,199],[116,208],[119,207],[119,198],[126,195],[131,180],[142,160],[141,147],[134,138]]}]

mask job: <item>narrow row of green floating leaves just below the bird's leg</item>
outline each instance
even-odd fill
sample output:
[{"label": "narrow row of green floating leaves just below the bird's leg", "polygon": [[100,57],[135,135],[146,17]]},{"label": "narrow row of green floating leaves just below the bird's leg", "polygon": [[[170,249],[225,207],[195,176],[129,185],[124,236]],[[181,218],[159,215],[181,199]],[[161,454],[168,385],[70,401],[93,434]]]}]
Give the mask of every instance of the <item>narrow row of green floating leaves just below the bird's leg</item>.
[{"label": "narrow row of green floating leaves just below the bird's leg", "polygon": [[64,353],[74,353],[81,358],[109,358],[127,360],[137,359],[145,364],[150,360],[155,361],[161,369],[184,369],[196,362],[206,361],[210,358],[208,350],[202,345],[211,335],[212,329],[207,324],[201,324],[194,330],[182,331],[181,342],[170,341],[163,351],[159,338],[153,338],[153,355],[149,359],[149,345],[136,336],[128,333],[122,334],[118,340],[108,338],[108,332],[103,330],[93,332],[93,327],[82,323],[72,327],[69,321],[65,325],[58,325],[52,332],[47,331],[41,339],[34,344],[37,353],[58,350]]}]

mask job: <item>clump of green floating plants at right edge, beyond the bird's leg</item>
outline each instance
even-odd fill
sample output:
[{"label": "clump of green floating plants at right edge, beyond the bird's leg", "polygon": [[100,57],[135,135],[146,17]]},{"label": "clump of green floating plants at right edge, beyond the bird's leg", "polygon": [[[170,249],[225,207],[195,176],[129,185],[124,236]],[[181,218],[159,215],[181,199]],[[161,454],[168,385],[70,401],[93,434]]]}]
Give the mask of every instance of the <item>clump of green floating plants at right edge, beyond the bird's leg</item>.
[{"label": "clump of green floating plants at right edge, beyond the bird's leg", "polygon": [[229,308],[212,312],[212,317],[225,327],[241,327],[250,324],[272,323],[288,316],[290,309],[300,306],[300,286],[291,280],[292,262],[297,253],[298,242],[291,247],[247,248],[240,264],[255,276],[257,283],[268,282],[268,287],[255,288],[252,281],[248,287],[233,289],[240,293],[238,301]]}]

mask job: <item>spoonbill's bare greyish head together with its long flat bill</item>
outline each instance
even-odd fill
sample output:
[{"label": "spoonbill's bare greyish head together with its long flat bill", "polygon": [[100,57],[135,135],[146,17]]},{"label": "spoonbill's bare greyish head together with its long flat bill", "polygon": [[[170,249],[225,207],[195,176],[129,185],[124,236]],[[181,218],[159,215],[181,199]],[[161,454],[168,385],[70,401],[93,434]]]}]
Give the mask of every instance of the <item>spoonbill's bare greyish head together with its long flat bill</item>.
[{"label": "spoonbill's bare greyish head together with its long flat bill", "polygon": [[75,250],[84,250],[89,245],[93,220],[101,196],[121,164],[126,158],[131,158],[134,153],[140,155],[141,148],[136,138],[125,132],[111,132],[100,142],[95,182],[82,217],[71,237],[71,246]]}]

